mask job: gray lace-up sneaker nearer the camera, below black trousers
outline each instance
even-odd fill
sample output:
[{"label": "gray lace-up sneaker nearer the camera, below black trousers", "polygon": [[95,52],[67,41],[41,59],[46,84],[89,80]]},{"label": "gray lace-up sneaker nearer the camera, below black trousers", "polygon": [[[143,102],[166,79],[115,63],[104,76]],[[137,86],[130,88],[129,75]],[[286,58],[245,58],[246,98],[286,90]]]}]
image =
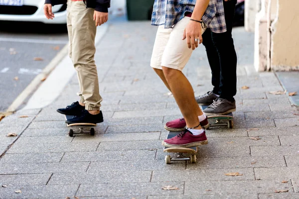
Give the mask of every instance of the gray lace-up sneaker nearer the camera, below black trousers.
[{"label": "gray lace-up sneaker nearer the camera, below black trousers", "polygon": [[225,115],[236,111],[236,101],[217,98],[214,102],[203,110],[206,115]]}]

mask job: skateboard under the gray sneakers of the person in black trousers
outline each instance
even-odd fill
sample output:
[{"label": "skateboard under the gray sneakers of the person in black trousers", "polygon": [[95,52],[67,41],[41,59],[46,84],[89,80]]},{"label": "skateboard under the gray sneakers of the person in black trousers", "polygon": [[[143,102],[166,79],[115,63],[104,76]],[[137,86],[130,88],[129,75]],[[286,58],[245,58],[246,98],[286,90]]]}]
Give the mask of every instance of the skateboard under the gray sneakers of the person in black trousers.
[{"label": "skateboard under the gray sneakers of the person in black trousers", "polygon": [[[202,110],[204,110],[207,107],[208,107],[208,105],[201,105]],[[209,115],[208,119],[215,120],[215,122],[213,122],[213,123],[209,121],[210,127],[213,127],[213,126],[227,126],[228,128],[234,127],[234,115],[232,112],[225,114],[225,115]]]}]

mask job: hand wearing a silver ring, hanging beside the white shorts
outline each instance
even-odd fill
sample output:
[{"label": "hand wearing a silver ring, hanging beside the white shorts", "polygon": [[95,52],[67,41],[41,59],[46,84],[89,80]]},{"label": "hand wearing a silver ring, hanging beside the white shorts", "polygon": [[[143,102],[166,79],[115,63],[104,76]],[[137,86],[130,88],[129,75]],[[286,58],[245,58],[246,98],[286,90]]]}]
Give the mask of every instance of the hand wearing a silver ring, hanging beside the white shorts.
[{"label": "hand wearing a silver ring, hanging beside the white shorts", "polygon": [[201,23],[190,20],[183,34],[183,40],[185,40],[186,38],[188,48],[192,48],[192,50],[195,50],[195,48],[198,47],[198,41],[199,44],[202,43]]}]

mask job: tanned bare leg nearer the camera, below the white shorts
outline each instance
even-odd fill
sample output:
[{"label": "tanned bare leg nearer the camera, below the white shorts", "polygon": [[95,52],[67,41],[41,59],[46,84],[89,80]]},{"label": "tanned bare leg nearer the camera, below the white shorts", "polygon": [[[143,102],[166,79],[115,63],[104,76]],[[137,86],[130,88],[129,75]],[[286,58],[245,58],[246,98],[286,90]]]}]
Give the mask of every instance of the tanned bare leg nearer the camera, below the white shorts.
[{"label": "tanned bare leg nearer the camera, below the white shorts", "polygon": [[[202,115],[202,111],[196,103],[191,84],[181,71],[167,67],[162,67],[162,69],[172,95],[186,120],[187,127],[197,126],[198,115]],[[201,129],[201,126],[195,129]]]}]

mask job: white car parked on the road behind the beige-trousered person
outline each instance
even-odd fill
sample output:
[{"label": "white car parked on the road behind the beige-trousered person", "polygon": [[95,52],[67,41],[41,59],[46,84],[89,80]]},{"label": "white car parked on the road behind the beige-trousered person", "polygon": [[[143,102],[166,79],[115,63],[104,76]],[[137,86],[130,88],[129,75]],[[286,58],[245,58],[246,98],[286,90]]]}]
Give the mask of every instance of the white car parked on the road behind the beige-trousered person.
[{"label": "white car parked on the road behind the beige-trousered person", "polygon": [[53,20],[47,19],[43,12],[45,0],[0,0],[0,21],[34,21],[66,24],[66,4],[55,5]]}]

